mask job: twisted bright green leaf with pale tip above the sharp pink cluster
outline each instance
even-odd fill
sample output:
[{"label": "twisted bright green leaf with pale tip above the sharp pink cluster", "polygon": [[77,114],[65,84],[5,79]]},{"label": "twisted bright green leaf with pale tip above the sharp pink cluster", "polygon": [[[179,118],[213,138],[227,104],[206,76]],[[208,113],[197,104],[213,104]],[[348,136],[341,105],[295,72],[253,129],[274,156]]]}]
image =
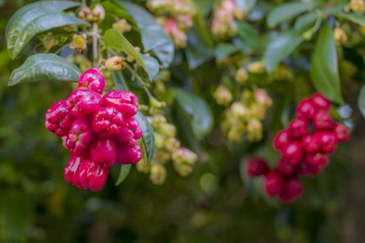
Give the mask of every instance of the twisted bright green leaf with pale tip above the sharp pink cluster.
[{"label": "twisted bright green leaf with pale tip above the sharp pink cluster", "polygon": [[108,31],[105,32],[104,41],[106,47],[118,49],[133,56],[133,58],[136,59],[136,62],[145,69],[150,81],[152,81],[154,76],[159,72],[159,62],[152,57],[147,57],[138,53],[133,45],[117,29],[108,29]]}]

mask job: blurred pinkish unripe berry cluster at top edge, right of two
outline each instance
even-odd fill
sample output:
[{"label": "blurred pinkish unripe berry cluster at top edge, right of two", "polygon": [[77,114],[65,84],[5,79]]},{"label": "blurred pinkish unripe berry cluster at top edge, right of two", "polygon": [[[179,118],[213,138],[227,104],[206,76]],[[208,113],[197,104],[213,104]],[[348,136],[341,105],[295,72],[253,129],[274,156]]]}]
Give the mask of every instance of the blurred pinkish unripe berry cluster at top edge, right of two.
[{"label": "blurred pinkish unripe berry cluster at top edge, right of two", "polygon": [[222,0],[213,12],[211,32],[219,39],[232,37],[237,33],[235,19],[243,18],[243,12],[236,6],[234,0]]}]

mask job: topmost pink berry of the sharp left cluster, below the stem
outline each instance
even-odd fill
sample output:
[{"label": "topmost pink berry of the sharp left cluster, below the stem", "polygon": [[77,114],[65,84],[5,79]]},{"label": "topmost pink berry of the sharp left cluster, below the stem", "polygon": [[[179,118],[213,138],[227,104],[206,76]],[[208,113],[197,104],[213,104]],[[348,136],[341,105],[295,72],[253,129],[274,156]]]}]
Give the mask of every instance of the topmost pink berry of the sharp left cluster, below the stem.
[{"label": "topmost pink berry of the sharp left cluster, below the stem", "polygon": [[78,87],[102,94],[105,87],[104,76],[99,73],[97,68],[88,69],[79,78]]}]

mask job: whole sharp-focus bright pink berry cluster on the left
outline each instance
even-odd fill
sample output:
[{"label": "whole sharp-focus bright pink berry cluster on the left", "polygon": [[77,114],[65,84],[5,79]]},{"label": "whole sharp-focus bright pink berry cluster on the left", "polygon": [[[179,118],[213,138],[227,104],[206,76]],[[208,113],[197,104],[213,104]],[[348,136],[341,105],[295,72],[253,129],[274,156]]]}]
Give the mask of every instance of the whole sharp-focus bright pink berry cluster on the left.
[{"label": "whole sharp-focus bright pink berry cluster on the left", "polygon": [[102,96],[104,76],[99,69],[88,69],[79,86],[64,101],[57,101],[46,112],[45,126],[71,152],[65,167],[65,180],[76,187],[102,189],[109,167],[138,162],[142,153],[137,140],[142,137],[133,118],[138,98],[133,92],[109,91]]}]

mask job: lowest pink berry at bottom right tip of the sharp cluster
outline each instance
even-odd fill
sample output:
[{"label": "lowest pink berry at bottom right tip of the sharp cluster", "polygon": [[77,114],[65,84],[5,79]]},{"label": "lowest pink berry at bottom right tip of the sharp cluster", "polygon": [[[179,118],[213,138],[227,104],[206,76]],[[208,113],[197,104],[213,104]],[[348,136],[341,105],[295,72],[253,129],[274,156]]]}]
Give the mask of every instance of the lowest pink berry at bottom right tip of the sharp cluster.
[{"label": "lowest pink berry at bottom right tip of the sharp cluster", "polygon": [[104,187],[108,177],[109,167],[97,164],[90,159],[81,160],[79,173],[77,177],[81,188],[99,191]]}]

